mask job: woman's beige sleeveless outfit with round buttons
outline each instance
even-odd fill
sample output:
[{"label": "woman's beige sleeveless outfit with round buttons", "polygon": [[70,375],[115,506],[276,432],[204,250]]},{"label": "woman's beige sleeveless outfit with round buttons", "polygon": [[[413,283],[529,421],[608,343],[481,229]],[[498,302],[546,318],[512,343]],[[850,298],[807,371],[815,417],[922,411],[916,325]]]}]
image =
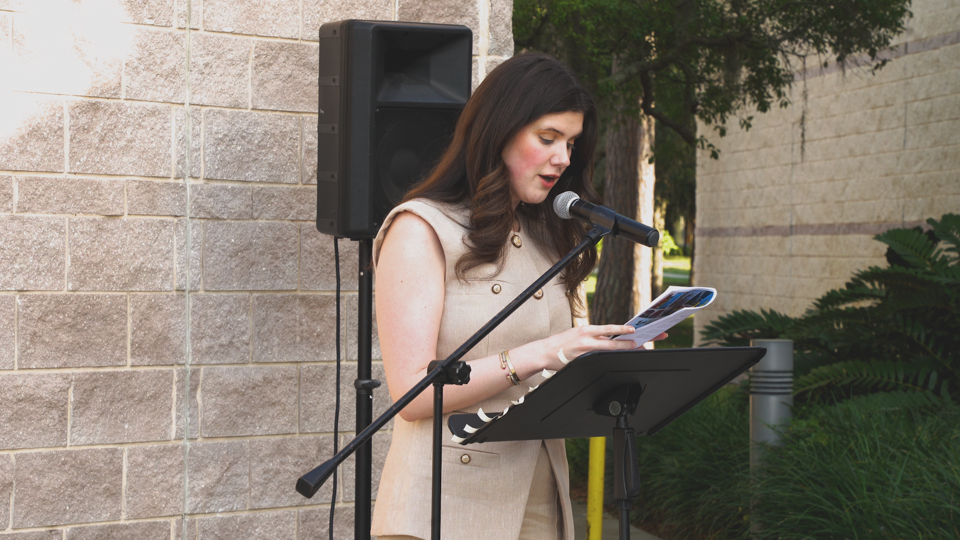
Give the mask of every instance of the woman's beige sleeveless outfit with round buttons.
[{"label": "woman's beige sleeveless outfit with round buttons", "polygon": [[[508,245],[500,274],[492,276],[495,269],[487,265],[472,270],[468,281],[462,282],[454,274],[454,265],[467,249],[466,230],[460,224],[467,223],[468,209],[415,200],[387,215],[373,241],[374,268],[384,235],[401,211],[411,211],[429,223],[444,248],[446,277],[444,314],[437,341],[439,359],[456,350],[555,262],[526,234],[527,228],[521,227],[520,233],[512,233],[518,240]],[[463,359],[496,355],[565,331],[572,324],[564,284],[554,278],[543,287],[540,298],[532,298],[519,307]],[[540,375],[533,376],[458,412],[476,412],[480,407],[503,410],[542,380]],[[443,538],[516,540],[522,536],[522,540],[573,540],[564,440],[461,446],[449,439],[449,414],[452,413],[444,415]],[[395,417],[393,442],[373,510],[372,535],[430,538],[432,426],[432,418],[405,422]],[[469,459],[463,457],[465,454]]]}]

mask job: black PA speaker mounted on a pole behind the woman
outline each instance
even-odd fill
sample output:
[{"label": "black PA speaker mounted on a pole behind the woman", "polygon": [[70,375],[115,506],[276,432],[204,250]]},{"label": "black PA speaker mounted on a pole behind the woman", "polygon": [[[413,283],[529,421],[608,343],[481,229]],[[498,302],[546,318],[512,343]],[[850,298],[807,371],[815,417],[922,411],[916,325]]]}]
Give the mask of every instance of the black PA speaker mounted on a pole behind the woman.
[{"label": "black PA speaker mounted on a pole behind the woman", "polygon": [[376,236],[450,142],[470,95],[466,26],[343,20],[320,27],[317,230]]}]

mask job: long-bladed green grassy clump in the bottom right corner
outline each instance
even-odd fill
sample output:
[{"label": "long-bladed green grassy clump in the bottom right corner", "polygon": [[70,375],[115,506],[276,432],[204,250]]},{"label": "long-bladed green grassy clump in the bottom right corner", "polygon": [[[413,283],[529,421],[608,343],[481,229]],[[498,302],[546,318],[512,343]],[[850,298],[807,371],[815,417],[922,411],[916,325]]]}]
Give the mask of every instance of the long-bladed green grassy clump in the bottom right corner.
[{"label": "long-bladed green grassy clump in the bottom right corner", "polygon": [[[866,406],[864,406],[866,405]],[[960,538],[960,411],[853,400],[794,420],[753,491],[760,538]]]}]

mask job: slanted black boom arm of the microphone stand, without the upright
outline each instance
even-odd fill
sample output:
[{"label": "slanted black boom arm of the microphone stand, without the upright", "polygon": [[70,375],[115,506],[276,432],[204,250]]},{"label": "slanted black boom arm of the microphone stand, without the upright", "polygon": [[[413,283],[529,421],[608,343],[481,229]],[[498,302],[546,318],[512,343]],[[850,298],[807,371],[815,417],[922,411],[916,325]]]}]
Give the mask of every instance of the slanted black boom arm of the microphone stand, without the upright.
[{"label": "slanted black boom arm of the microphone stand, without the upright", "polygon": [[540,290],[547,282],[552,280],[557,274],[560,274],[561,271],[566,268],[574,258],[580,256],[584,253],[588,247],[596,245],[607,233],[610,233],[610,229],[606,227],[601,227],[599,225],[594,225],[589,232],[584,236],[584,239],[577,244],[577,247],[573,248],[570,253],[566,254],[564,258],[561,258],[557,261],[556,264],[550,267],[536,282],[533,282],[529,287],[527,287],[523,292],[521,292],[507,307],[504,307],[500,310],[499,313],[493,316],[493,318],[483,326],[480,330],[476,331],[471,335],[467,341],[463,343],[456,351],[454,351],[450,356],[447,356],[443,362],[441,362],[437,367],[433,369],[430,373],[426,375],[420,382],[414,385],[406,394],[403,394],[399,400],[396,401],[394,405],[390,405],[387,410],[381,414],[376,420],[372,422],[367,429],[360,431],[360,433],[353,438],[347,445],[344,446],[343,450],[338,452],[333,457],[327,459],[319,467],[313,469],[309,473],[297,479],[297,492],[300,493],[303,497],[307,499],[312,498],[317,491],[324,485],[326,479],[330,478],[333,475],[333,472],[337,470],[337,466],[344,462],[350,454],[356,452],[358,448],[363,446],[370,438],[373,436],[373,433],[379,431],[383,428],[387,422],[390,422],[390,419],[396,416],[403,407],[410,405],[410,402],[414,401],[417,396],[423,390],[426,390],[433,384],[433,381],[444,373],[444,369],[450,362],[459,360],[461,357],[466,355],[470,349],[476,346],[477,343],[480,343],[484,337],[487,337],[493,329],[500,326],[507,317],[509,317],[517,307],[523,305],[524,302],[530,299],[535,292]]}]

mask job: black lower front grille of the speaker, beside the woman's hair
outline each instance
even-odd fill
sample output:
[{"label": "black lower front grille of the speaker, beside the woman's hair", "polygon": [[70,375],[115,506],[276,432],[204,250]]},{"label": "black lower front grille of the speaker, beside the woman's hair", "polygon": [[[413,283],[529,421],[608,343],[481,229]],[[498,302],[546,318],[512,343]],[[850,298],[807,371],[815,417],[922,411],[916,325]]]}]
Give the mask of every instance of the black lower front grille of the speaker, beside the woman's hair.
[{"label": "black lower front grille of the speaker, beside the woman's hair", "polygon": [[459,115],[460,109],[379,107],[374,111],[371,215],[377,226],[440,160]]}]

